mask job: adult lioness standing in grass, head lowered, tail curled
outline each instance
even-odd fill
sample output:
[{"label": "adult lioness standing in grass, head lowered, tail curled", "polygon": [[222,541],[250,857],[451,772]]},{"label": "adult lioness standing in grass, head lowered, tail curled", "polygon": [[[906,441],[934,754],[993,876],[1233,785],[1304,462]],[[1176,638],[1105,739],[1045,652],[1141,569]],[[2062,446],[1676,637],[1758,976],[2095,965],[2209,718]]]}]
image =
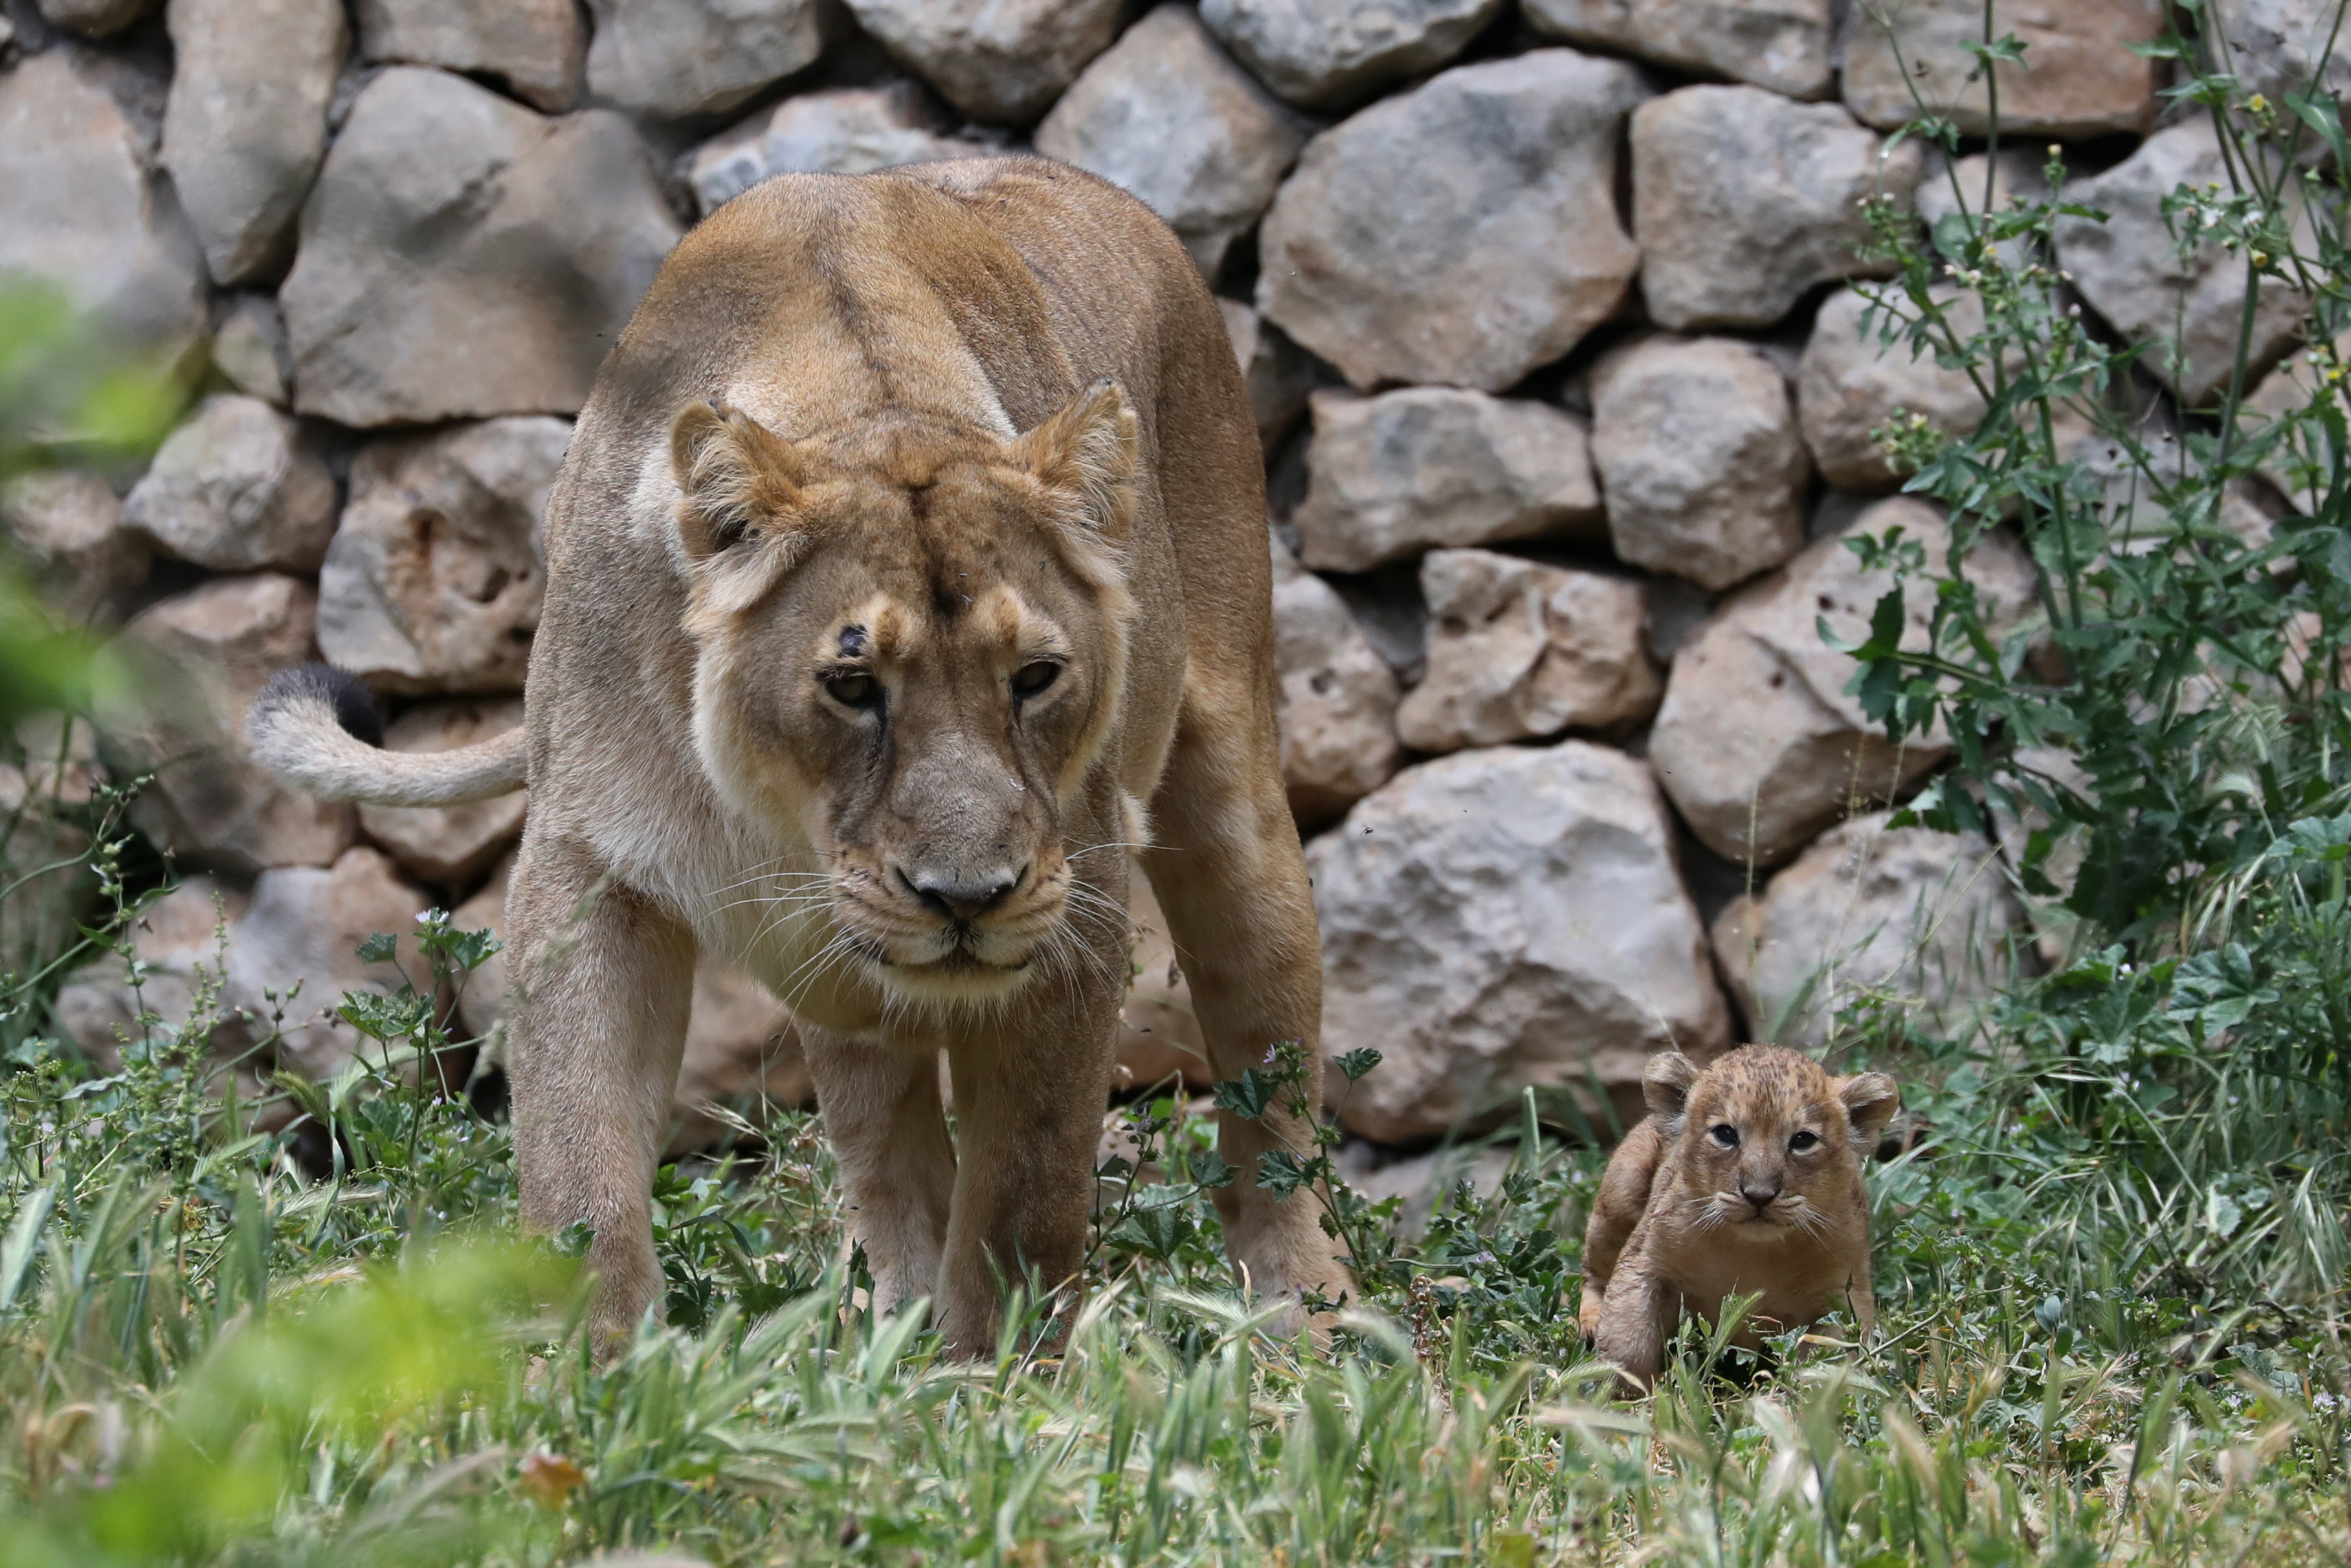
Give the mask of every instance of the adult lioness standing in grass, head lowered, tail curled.
[{"label": "adult lioness standing in grass, head lowered, tail curled", "polygon": [[[710,945],[799,1018],[877,1302],[929,1295],[978,1354],[1009,1281],[1084,1253],[1131,846],[1213,1070],[1317,1046],[1272,654],[1258,437],[1166,226],[1041,160],[795,174],[684,237],[597,376],[520,738],[388,755],[320,675],[252,738],[339,799],[529,783],[522,1213],[595,1229],[604,1333],[661,1286],[649,1185]],[[1314,1199],[1255,1185],[1277,1140],[1300,1128],[1223,1119],[1232,1260],[1335,1295]]]}]

